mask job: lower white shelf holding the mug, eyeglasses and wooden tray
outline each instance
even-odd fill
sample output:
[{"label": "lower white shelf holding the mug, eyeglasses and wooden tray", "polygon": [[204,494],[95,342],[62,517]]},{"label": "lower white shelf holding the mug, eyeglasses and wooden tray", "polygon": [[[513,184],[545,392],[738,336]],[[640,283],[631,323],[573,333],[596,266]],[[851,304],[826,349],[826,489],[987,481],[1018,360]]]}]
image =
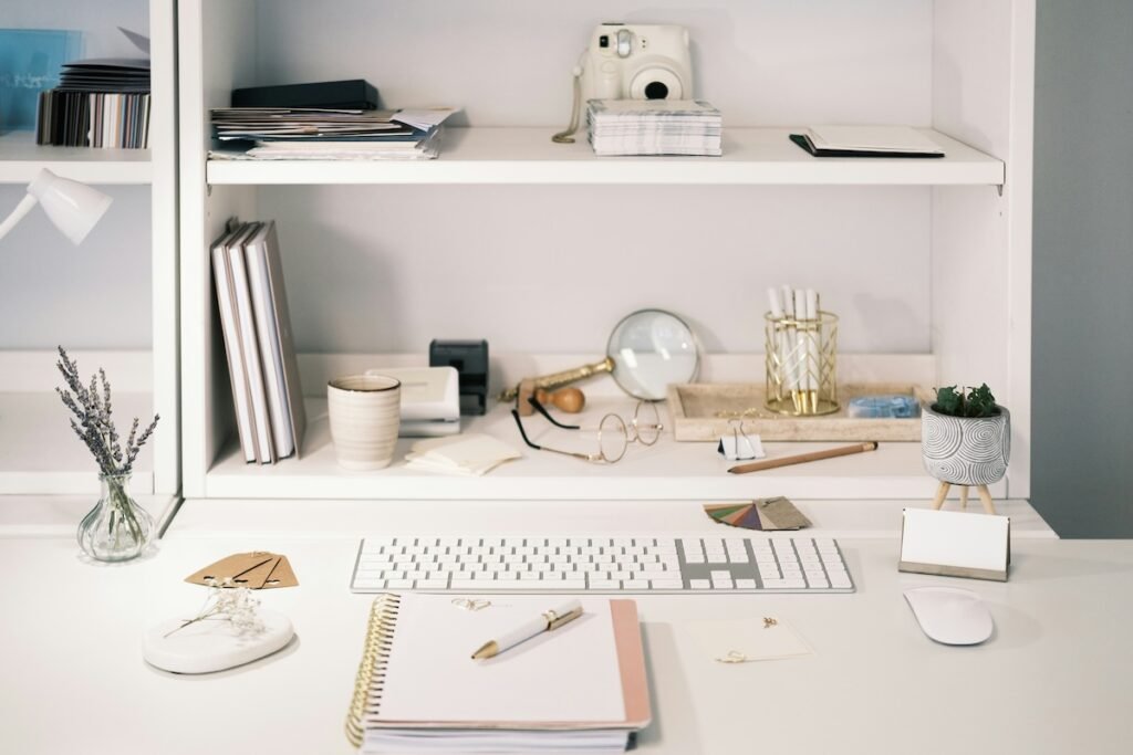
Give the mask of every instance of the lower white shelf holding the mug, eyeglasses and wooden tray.
[{"label": "lower white shelf holding the mug, eyeglasses and wooden tray", "polygon": [[[596,422],[607,411],[632,412],[628,398],[591,401],[580,422]],[[663,411],[664,421],[667,412]],[[753,474],[727,474],[731,462],[708,443],[676,443],[671,434],[653,447],[631,444],[614,465],[589,464],[523,446],[509,409],[497,405],[482,418],[465,418],[465,432],[484,432],[513,445],[525,458],[508,462],[480,478],[448,477],[409,470],[402,461],[412,439],[398,443],[394,463],[375,472],[348,472],[334,460],[326,402],[307,400],[307,436],[303,458],[274,465],[246,464],[230,444],[205,480],[208,498],[460,498],[494,499],[748,499],[787,496],[796,499],[931,500],[937,482],[921,466],[920,444],[883,444],[876,452],[800,464]],[[525,419],[535,443],[586,449],[586,440],[555,430],[539,418]],[[593,438],[591,438],[593,443]],[[765,444],[769,457],[844,444]],[[1004,495],[1003,483],[993,496]]]}]

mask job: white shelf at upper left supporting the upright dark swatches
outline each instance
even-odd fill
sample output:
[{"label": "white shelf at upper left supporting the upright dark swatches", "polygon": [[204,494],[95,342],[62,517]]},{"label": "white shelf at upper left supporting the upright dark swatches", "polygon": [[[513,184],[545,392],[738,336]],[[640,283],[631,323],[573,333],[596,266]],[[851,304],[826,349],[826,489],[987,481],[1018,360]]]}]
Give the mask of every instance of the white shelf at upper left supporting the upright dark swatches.
[{"label": "white shelf at upper left supporting the upright dark swatches", "polygon": [[0,183],[28,183],[41,168],[84,183],[147,185],[153,181],[148,149],[49,147],[32,131],[0,136]]}]

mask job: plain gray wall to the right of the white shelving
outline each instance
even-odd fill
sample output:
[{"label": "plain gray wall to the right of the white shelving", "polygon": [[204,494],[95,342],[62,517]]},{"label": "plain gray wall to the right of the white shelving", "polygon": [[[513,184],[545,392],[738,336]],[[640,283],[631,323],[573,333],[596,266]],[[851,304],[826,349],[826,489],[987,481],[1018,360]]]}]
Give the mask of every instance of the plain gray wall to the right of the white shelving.
[{"label": "plain gray wall to the right of the white shelving", "polygon": [[1039,0],[1031,500],[1133,537],[1133,2]]}]

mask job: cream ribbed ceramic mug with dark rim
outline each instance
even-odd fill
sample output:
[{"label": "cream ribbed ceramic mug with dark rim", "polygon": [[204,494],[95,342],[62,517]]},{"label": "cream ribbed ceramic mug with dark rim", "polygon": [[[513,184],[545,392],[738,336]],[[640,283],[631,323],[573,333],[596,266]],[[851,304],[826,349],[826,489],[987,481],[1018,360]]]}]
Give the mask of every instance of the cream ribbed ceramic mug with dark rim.
[{"label": "cream ribbed ceramic mug with dark rim", "polygon": [[326,384],[331,439],[339,464],[380,470],[393,461],[401,420],[401,381],[386,375],[348,375]]}]

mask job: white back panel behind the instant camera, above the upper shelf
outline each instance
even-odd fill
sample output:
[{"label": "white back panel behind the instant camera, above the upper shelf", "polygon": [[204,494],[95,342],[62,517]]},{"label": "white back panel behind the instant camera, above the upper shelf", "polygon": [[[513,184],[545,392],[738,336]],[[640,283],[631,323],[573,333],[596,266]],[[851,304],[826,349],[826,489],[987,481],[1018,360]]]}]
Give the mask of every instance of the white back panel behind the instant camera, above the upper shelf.
[{"label": "white back panel behind the instant camera, above the upper shelf", "polygon": [[930,0],[271,0],[257,3],[257,55],[262,84],[361,77],[389,106],[561,126],[595,26],[682,24],[696,95],[726,126],[928,126],[931,15]]}]

